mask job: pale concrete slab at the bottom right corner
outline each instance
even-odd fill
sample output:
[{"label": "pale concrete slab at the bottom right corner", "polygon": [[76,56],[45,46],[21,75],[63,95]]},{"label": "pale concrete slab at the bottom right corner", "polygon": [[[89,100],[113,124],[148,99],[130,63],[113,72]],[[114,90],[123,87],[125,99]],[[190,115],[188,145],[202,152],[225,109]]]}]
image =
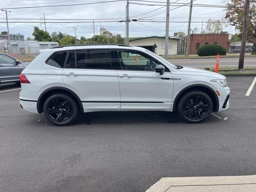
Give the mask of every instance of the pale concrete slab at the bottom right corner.
[{"label": "pale concrete slab at the bottom right corner", "polygon": [[252,192],[256,175],[161,178],[146,192]]}]

